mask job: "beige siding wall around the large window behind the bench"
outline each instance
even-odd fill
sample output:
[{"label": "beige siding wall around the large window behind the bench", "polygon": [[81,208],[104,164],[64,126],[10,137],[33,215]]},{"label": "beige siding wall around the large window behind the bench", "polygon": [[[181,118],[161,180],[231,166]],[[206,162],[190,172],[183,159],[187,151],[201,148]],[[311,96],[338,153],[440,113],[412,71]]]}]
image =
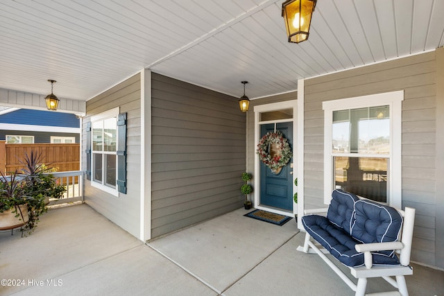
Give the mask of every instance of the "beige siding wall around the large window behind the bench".
[{"label": "beige siding wall around the large window behind the bench", "polygon": [[438,227],[435,224],[435,72],[435,52],[432,52],[305,81],[306,207],[323,205],[322,102],[404,90],[402,206],[417,210],[411,258],[429,265],[438,265],[435,260],[435,231]]}]

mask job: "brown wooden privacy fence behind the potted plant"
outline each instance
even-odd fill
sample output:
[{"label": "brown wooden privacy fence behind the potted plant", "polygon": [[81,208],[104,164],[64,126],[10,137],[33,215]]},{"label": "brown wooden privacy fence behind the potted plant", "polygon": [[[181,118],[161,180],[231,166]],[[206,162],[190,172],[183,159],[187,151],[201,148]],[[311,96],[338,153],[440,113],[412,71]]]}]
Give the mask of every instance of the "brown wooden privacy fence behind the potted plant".
[{"label": "brown wooden privacy fence behind the potted plant", "polygon": [[0,141],[0,171],[9,175],[15,170],[22,170],[25,154],[31,150],[42,152],[43,163],[49,168],[56,168],[58,172],[80,171],[80,145],[71,144],[7,144]]}]

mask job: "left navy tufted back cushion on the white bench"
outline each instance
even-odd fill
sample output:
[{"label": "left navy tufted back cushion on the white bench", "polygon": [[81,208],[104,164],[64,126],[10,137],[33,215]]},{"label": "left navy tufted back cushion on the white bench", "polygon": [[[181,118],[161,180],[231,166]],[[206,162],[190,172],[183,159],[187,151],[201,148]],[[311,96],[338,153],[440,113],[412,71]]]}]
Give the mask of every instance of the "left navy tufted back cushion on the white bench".
[{"label": "left navy tufted back cushion on the white bench", "polygon": [[359,198],[353,193],[335,189],[328,207],[327,219],[337,227],[344,229],[348,234],[351,234],[353,211],[355,211],[355,202],[358,200]]}]

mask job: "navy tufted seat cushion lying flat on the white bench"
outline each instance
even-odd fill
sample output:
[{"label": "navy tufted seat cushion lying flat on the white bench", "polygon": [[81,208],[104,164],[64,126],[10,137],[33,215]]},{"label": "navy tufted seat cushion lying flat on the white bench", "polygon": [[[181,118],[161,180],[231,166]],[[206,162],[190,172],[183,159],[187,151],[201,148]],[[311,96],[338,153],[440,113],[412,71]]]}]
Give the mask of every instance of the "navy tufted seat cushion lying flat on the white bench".
[{"label": "navy tufted seat cushion lying flat on the white bench", "polygon": [[[355,250],[355,245],[360,242],[350,236],[343,228],[337,227],[327,218],[318,215],[304,216],[301,220],[302,225],[311,237],[321,243],[341,263],[350,267],[364,265],[364,253]],[[399,265],[399,260],[394,252],[391,254],[374,252],[373,264]]]}]

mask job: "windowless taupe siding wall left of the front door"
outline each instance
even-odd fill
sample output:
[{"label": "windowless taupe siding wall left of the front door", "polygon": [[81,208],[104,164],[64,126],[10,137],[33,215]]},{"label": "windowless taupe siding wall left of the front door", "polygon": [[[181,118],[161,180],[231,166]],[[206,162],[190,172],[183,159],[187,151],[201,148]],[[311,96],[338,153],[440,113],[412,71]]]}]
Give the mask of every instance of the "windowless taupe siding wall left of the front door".
[{"label": "windowless taupe siding wall left of the front door", "polygon": [[152,73],[151,236],[242,206],[245,114],[237,98]]}]

